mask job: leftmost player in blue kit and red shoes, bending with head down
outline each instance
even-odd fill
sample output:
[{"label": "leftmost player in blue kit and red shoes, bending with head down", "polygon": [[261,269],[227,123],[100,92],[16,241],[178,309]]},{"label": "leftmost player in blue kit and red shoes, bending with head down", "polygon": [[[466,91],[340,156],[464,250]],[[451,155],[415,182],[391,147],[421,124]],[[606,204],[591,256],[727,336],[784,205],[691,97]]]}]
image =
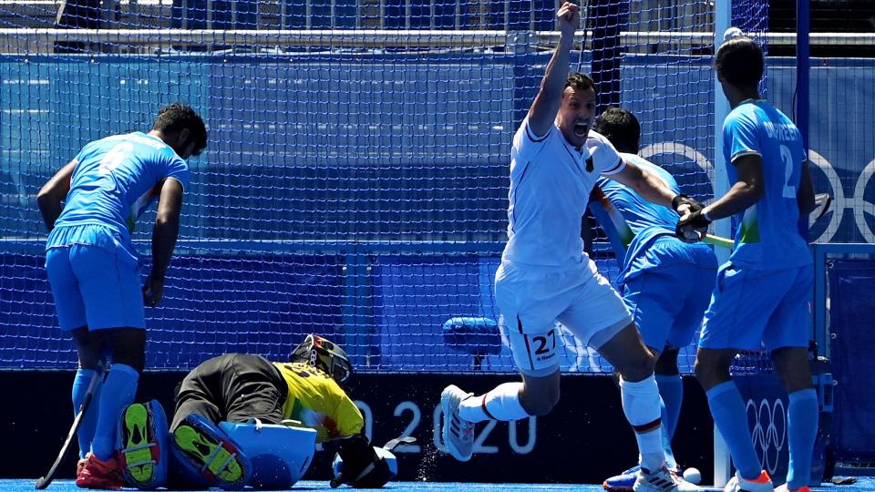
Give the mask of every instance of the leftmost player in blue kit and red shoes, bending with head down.
[{"label": "leftmost player in blue kit and red shoes, bending with head down", "polygon": [[[86,145],[37,195],[49,231],[46,272],[58,323],[73,338],[78,354],[74,411],[104,357],[112,363],[79,427],[80,457],[87,458],[78,466],[79,487],[118,488],[122,474],[130,476],[131,470],[120,469],[124,456],[114,451],[119,414],[133,401],[146,362],[144,305],[157,305],[164,290],[179,233],[182,193],[189,184],[185,159],[201,153],[206,144],[201,117],[187,106],[172,104],[161,108],[149,133],[116,135]],[[158,215],[152,231],[152,270],[144,284],[130,234],[154,200]],[[129,417],[121,437],[148,438],[132,431],[147,426],[143,415]],[[144,444],[123,442],[122,447]]]}]

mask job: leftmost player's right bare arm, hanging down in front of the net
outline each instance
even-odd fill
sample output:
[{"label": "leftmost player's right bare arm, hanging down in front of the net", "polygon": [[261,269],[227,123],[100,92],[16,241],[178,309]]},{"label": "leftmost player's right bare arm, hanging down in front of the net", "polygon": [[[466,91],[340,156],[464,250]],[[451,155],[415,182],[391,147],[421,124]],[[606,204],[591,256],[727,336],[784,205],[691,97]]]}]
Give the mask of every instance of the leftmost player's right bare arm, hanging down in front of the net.
[{"label": "leftmost player's right bare arm, hanging down in front of the net", "polygon": [[152,230],[152,272],[143,286],[143,298],[147,305],[158,305],[164,294],[164,275],[180,234],[181,210],[182,184],[176,179],[165,179],[161,184],[158,215]]}]

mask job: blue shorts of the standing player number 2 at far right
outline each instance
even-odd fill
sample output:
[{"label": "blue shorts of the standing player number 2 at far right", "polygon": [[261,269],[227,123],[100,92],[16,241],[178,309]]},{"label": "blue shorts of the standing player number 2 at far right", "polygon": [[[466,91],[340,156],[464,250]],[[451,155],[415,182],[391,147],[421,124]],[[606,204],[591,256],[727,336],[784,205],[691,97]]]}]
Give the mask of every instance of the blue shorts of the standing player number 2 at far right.
[{"label": "blue shorts of the standing player number 2 at far right", "polygon": [[757,270],[726,263],[699,346],[705,349],[759,350],[808,347],[809,306],[814,267]]}]

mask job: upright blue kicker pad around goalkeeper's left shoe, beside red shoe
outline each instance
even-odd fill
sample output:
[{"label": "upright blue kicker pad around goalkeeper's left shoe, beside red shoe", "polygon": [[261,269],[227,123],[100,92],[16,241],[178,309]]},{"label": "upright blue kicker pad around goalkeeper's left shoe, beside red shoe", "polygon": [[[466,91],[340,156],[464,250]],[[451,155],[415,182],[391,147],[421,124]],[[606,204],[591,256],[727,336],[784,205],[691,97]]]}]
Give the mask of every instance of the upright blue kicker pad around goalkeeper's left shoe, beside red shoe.
[{"label": "upright blue kicker pad around goalkeeper's left shoe, beside red shoe", "polygon": [[[125,437],[125,415],[128,409],[133,405],[143,405],[147,411],[147,442],[126,447],[124,443]],[[170,461],[170,449],[167,441],[167,415],[164,413],[164,407],[158,400],[151,400],[145,404],[133,404],[125,407],[118,418],[118,445],[117,449],[122,457],[122,471],[125,479],[132,487],[137,487],[140,490],[152,490],[158,487],[167,485],[167,475]],[[143,453],[138,453],[138,450],[143,448],[149,449],[149,455],[143,456]],[[136,459],[137,461],[131,461]],[[145,482],[140,482],[135,474],[131,473],[131,468],[137,466],[149,466],[152,468],[152,477]]]}]

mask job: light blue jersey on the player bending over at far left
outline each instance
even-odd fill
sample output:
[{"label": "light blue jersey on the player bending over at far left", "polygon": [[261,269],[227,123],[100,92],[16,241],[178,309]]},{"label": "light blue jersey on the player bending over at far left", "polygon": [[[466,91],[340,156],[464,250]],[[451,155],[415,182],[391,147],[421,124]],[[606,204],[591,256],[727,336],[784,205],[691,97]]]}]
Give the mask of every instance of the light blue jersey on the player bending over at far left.
[{"label": "light blue jersey on the player bending over at far left", "polygon": [[93,141],[79,151],[67,203],[49,236],[46,249],[88,238],[71,238],[65,229],[77,225],[110,228],[128,242],[134,223],[158,200],[164,179],[189,185],[189,167],[160,138],[142,132]]}]

